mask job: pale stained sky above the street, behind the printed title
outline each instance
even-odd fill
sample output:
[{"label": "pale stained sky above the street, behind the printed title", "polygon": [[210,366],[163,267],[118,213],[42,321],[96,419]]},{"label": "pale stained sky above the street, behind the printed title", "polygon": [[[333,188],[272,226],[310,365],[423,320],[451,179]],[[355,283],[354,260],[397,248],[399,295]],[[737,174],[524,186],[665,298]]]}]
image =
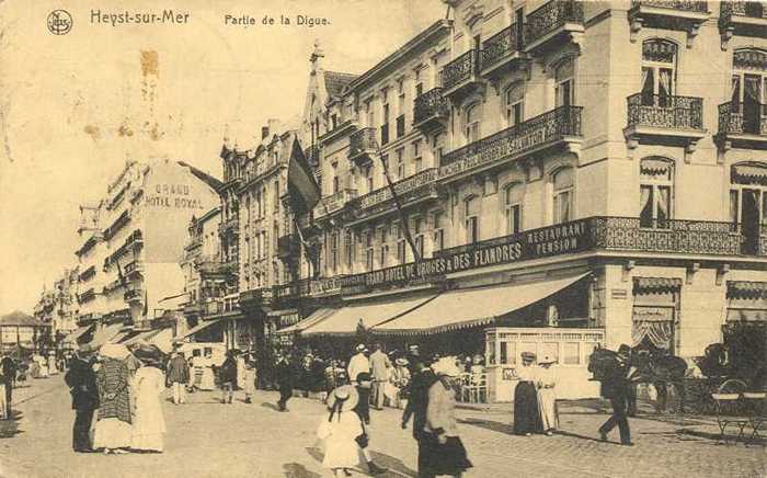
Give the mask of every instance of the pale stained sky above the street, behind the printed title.
[{"label": "pale stained sky above the street, behind the printed title", "polygon": [[[325,69],[359,73],[446,14],[440,0],[75,0],[71,30],[54,35],[61,4],[0,2],[0,315],[31,312],[77,264],[79,206],[126,159],[167,156],[220,178],[225,136],[249,147],[267,118],[300,116],[316,41]],[[188,20],[113,25],[126,4]]]}]

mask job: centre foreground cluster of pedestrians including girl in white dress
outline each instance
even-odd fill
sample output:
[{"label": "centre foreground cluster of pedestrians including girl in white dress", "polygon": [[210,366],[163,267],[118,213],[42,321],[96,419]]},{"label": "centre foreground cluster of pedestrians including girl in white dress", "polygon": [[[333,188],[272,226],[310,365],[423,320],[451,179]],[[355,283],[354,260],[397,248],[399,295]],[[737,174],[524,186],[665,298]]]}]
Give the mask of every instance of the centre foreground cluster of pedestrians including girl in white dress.
[{"label": "centre foreground cluster of pedestrians including girl in white dress", "polygon": [[456,379],[462,372],[455,357],[425,358],[417,346],[413,346],[408,358],[398,357],[392,364],[380,344],[376,344],[369,357],[367,351],[365,344],[357,345],[348,362],[350,384],[336,387],[329,395],[329,414],[323,417],[317,431],[325,445],[323,465],[336,477],[351,476],[350,469],[360,462],[367,462],[371,475],[386,471],[373,462],[368,451],[369,406],[382,408],[381,397],[391,383],[392,371],[399,368],[402,374],[408,365],[408,400],[402,428],[407,429],[412,419],[419,477],[460,477],[472,465],[455,418]]}]

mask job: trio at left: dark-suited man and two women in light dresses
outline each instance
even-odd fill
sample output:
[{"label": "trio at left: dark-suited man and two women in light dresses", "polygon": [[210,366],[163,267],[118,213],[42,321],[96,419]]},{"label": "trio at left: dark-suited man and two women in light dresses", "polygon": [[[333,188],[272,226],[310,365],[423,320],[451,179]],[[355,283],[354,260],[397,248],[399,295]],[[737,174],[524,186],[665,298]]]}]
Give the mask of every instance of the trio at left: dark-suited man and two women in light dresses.
[{"label": "trio at left: dark-suited man and two women in light dresses", "polygon": [[129,351],[125,345],[108,343],[95,351],[80,344],[69,365],[65,380],[76,411],[75,452],[163,451],[165,423],[160,395],[165,389],[165,363],[159,349],[138,346]]}]

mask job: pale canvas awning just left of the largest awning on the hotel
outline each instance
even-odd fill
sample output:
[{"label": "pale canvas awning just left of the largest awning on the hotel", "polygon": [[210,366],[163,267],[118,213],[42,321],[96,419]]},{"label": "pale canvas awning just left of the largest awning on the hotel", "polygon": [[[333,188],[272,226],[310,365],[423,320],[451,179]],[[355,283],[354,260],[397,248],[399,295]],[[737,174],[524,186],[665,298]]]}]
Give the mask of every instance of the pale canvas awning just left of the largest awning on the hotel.
[{"label": "pale canvas awning just left of the largest awning on the hotel", "polygon": [[417,309],[436,294],[419,294],[410,297],[388,297],[377,300],[353,303],[335,311],[329,318],[308,327],[304,335],[348,335],[357,330],[357,325],[362,320],[363,326],[369,328],[376,323],[396,319],[413,309]]}]

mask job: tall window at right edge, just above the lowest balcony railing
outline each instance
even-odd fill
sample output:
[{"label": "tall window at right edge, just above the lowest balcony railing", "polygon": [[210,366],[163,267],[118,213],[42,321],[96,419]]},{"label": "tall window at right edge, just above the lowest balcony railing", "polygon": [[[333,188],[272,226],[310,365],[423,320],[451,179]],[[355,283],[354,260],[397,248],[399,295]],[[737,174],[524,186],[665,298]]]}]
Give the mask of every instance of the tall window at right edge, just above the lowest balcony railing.
[{"label": "tall window at right edge, just above the lowest balcony railing", "polygon": [[762,230],[767,230],[767,163],[734,164],[730,183],[730,220],[745,237],[744,252],[755,254]]}]

